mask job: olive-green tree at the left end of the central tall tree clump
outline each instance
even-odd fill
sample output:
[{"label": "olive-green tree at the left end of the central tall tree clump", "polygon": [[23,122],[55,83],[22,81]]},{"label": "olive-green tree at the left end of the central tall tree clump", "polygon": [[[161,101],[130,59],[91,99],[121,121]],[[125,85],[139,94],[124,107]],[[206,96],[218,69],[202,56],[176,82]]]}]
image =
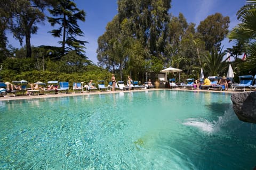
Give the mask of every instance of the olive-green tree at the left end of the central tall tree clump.
[{"label": "olive-green tree at the left end of the central tall tree clump", "polygon": [[[119,69],[120,77],[123,78],[124,65],[129,60],[129,52],[131,50],[131,37],[126,37],[127,20],[122,23],[118,22],[118,15],[107,24],[105,33],[98,39],[97,58],[99,64],[106,66],[111,72]],[[129,31],[129,30],[128,30]]]}]

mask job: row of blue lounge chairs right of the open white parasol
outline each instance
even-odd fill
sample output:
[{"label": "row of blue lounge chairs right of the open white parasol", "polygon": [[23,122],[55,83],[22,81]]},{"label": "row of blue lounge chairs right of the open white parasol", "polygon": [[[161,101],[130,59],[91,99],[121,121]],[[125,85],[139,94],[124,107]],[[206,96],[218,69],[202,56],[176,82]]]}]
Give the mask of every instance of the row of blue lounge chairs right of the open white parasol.
[{"label": "row of blue lounge chairs right of the open white parasol", "polygon": [[[225,89],[225,85],[219,85],[218,80],[221,78],[218,78],[217,76],[208,77],[208,79],[211,81],[210,85],[201,85],[201,89],[218,89],[223,90]],[[175,84],[175,79],[169,79],[170,88],[182,88],[182,89],[197,89],[196,85],[194,85],[194,79],[187,79],[187,84],[181,83],[179,85]],[[201,80],[203,81],[203,80]],[[254,82],[254,85],[252,85]],[[243,90],[246,89],[256,89],[256,75],[241,75],[239,76],[239,83],[229,83],[231,90]]]}]

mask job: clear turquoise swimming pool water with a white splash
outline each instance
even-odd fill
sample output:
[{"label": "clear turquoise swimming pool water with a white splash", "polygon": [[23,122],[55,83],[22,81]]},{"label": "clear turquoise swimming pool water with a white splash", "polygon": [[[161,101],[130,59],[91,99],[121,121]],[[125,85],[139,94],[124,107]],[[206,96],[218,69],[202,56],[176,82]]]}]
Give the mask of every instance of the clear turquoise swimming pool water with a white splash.
[{"label": "clear turquoise swimming pool water with a white splash", "polygon": [[0,101],[0,169],[253,169],[230,95],[141,91]]}]

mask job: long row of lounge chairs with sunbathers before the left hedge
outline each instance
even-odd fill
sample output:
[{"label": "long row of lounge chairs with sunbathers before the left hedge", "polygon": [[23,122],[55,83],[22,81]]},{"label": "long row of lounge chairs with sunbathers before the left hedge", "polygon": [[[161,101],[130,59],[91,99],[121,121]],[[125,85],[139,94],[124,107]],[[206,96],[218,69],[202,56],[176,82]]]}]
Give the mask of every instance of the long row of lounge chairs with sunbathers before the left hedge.
[{"label": "long row of lounge chairs with sunbathers before the left hedge", "polygon": [[[40,86],[39,89],[31,89],[30,87],[28,88],[28,83],[25,80],[22,81],[13,81],[13,84],[19,84],[21,86],[21,90],[11,90],[7,89],[7,86],[4,82],[0,82],[0,96],[16,96],[17,93],[20,93],[22,95],[28,94],[29,96],[31,95],[40,95],[40,94],[66,94],[68,93],[69,90],[69,82],[58,82],[58,81],[48,81],[47,86],[50,87],[51,85],[54,85],[54,88],[46,88],[46,83],[43,82],[36,82],[38,86]],[[100,91],[110,91],[112,89],[113,84],[109,82],[108,86],[105,86],[105,81],[100,80],[98,81],[98,88],[95,87],[95,84],[93,86],[89,86],[83,82],[74,82],[73,83],[73,91],[74,92],[90,92],[90,91],[95,91],[95,90],[100,90]],[[117,90],[130,90],[130,89],[142,89],[146,88],[146,86],[140,86],[138,81],[133,81],[131,84],[131,87],[128,85],[124,85],[124,81],[118,81],[118,83],[115,84],[115,89]],[[154,86],[150,86],[148,88],[154,88]]]}]

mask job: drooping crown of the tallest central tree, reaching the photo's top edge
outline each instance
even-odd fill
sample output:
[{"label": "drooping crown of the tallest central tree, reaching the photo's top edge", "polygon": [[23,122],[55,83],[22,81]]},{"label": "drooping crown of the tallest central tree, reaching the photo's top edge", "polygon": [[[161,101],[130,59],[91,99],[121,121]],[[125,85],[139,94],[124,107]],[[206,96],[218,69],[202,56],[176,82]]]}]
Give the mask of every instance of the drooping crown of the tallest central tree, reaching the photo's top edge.
[{"label": "drooping crown of the tallest central tree, reaching the photo's top edge", "polygon": [[152,56],[162,59],[166,39],[165,27],[170,21],[171,0],[118,0],[119,22],[127,20],[130,35]]}]

